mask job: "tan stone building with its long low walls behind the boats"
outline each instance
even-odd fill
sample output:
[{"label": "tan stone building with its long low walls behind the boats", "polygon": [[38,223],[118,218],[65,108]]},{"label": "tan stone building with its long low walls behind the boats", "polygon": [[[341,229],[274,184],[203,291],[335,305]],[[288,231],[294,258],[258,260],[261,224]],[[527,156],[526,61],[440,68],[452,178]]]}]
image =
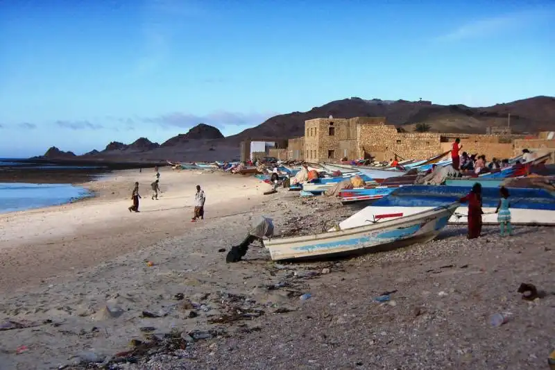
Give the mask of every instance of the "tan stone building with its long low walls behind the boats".
[{"label": "tan stone building with its long low walls behind the boats", "polygon": [[280,160],[336,162],[370,158],[384,161],[395,155],[400,159],[422,160],[449,151],[459,137],[463,151],[486,158],[511,158],[522,149],[542,153],[555,151],[554,133],[540,133],[533,138],[522,135],[475,135],[462,133],[398,132],[385,117],[317,118],[305,121],[305,136],[290,139],[287,149],[271,149],[269,155]]}]

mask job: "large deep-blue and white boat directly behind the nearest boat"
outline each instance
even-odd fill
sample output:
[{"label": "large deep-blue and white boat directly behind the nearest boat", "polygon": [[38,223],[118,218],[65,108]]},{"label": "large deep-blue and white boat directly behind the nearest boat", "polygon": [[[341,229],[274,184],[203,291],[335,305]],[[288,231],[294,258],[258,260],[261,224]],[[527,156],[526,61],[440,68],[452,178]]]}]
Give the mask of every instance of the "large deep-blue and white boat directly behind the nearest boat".
[{"label": "large deep-blue and white boat directly behind the nearest boat", "polygon": [[[443,185],[409,185],[400,187],[388,196],[378,199],[372,205],[341,221],[342,229],[355,228],[407,217],[418,212],[450,204],[468,194],[468,187]],[[544,189],[509,189],[511,196],[511,223],[515,225],[555,225],[555,196]],[[493,187],[482,189],[483,224],[498,224],[495,209],[499,202],[499,190]],[[461,203],[449,222],[467,224],[468,205]]]}]

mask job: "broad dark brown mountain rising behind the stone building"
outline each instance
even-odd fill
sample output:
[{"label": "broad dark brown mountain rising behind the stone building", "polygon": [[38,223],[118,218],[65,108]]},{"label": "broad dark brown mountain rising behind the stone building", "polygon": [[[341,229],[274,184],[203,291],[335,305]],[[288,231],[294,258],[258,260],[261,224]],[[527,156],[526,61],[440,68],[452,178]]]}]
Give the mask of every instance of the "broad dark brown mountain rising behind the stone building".
[{"label": "broad dark brown mountain rising behind the stone building", "polygon": [[[388,124],[410,126],[429,124],[432,132],[486,133],[488,126],[505,126],[511,113],[511,129],[515,133],[555,130],[555,98],[536,96],[491,107],[441,106],[429,101],[363,100],[357,97],[332,101],[308,112],[292,112],[271,117],[256,127],[229,140],[291,138],[304,135],[307,119],[386,117]],[[411,127],[407,127],[411,131]]]}]

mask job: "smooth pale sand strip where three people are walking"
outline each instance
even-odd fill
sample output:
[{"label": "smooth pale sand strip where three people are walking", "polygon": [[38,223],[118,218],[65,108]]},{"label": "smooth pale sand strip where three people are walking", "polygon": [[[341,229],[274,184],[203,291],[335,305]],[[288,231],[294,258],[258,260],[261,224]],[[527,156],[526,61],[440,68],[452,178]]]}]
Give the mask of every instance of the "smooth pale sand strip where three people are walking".
[{"label": "smooth pale sand strip where three people are walking", "polygon": [[[169,169],[161,169],[160,173],[163,193],[159,201],[150,199],[153,173],[124,170],[83,183],[94,197],[0,214],[3,226],[0,228],[0,290],[8,292],[40,283],[60,272],[82,269],[105,258],[151,245],[161,238],[181,235],[182,227],[188,229],[191,224],[197,183],[203,185],[207,193],[207,219],[233,214],[234,209],[253,205],[259,201],[258,195],[262,196],[262,192],[257,191],[258,180],[254,178]],[[139,191],[143,199],[139,206],[141,212],[132,214],[127,208],[135,180],[141,184]],[[96,251],[99,253],[85,258],[83,253],[94,249],[99,249]],[[29,260],[32,255],[33,260]],[[21,271],[22,261],[27,261],[27,265],[31,263],[32,271]]]}]

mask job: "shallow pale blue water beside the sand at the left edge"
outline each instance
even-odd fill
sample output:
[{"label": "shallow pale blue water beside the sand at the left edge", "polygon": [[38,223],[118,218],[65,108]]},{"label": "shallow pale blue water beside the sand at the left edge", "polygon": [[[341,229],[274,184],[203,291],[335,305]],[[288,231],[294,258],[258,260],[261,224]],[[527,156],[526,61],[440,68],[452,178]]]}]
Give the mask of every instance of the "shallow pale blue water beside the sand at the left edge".
[{"label": "shallow pale blue water beside the sand at the left edge", "polygon": [[42,208],[92,196],[70,184],[0,183],[0,213]]}]

